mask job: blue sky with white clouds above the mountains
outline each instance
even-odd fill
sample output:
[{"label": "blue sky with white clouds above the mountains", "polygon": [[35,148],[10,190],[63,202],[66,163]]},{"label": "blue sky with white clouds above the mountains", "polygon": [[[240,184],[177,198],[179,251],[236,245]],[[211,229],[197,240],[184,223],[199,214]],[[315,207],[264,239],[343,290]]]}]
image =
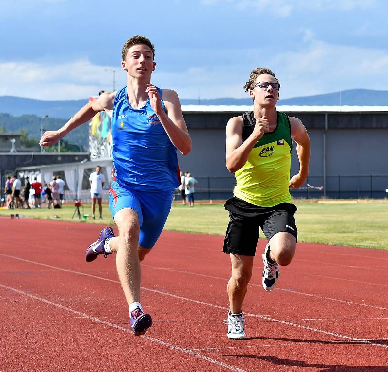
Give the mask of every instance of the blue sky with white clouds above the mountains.
[{"label": "blue sky with white clouds above the mountains", "polygon": [[[16,5],[15,5],[16,4]],[[152,82],[181,98],[247,97],[271,68],[290,98],[388,90],[385,0],[18,0],[2,2],[0,96],[83,99],[126,84],[132,35],[156,48]]]}]

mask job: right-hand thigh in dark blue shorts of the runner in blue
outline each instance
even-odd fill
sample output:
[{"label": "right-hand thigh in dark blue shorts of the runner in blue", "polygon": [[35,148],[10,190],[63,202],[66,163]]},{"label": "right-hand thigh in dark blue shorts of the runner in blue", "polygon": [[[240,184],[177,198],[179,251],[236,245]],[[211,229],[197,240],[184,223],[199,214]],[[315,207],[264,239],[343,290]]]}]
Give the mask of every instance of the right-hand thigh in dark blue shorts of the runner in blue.
[{"label": "right-hand thigh in dark blue shorts of the runner in blue", "polygon": [[173,200],[173,191],[142,193],[143,224],[140,229],[139,245],[151,249],[160,237]]}]

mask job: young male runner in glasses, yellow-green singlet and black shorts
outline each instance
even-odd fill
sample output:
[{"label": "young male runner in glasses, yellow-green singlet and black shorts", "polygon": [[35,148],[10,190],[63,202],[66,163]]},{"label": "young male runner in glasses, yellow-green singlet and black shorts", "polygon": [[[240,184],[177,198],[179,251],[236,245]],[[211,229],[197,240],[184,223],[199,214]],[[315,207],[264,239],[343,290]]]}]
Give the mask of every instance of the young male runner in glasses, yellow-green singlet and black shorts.
[{"label": "young male runner in glasses, yellow-green singlet and black shorts", "polygon": [[[226,126],[226,167],[236,176],[234,197],[224,204],[230,217],[223,252],[230,254],[232,263],[225,321],[231,339],[245,338],[242,303],[252,276],[259,227],[269,241],[262,255],[265,290],[275,287],[279,265],[288,265],[295,254],[296,206],[291,204],[289,187],[303,184],[310,160],[310,138],[302,122],[276,111],[280,84],[275,74],[257,68],[244,88],[253,100],[253,111],[231,118]],[[294,140],[300,169],[290,180]]]}]

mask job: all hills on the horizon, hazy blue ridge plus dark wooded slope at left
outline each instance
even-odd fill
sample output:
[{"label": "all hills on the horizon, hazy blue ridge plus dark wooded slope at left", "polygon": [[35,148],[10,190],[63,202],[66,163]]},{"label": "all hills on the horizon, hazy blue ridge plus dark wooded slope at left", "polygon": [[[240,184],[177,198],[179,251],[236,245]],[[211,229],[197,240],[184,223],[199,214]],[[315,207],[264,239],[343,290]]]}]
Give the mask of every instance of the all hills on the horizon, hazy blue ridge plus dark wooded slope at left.
[{"label": "all hills on the horizon, hazy blue ridge plus dark wooded slope at left", "polygon": [[[30,98],[2,96],[0,97],[0,129],[5,133],[17,134],[19,130],[27,131],[30,138],[40,138],[40,124],[42,117],[43,127],[46,130],[56,130],[63,126],[88,99],[72,101],[42,101]],[[182,99],[183,105],[251,105],[249,97],[215,98],[215,99]],[[388,91],[353,89],[342,92],[320,94],[309,97],[296,97],[279,100],[278,105],[297,106],[388,106]],[[81,125],[66,136],[66,140],[80,146],[88,142],[88,126]]]}]

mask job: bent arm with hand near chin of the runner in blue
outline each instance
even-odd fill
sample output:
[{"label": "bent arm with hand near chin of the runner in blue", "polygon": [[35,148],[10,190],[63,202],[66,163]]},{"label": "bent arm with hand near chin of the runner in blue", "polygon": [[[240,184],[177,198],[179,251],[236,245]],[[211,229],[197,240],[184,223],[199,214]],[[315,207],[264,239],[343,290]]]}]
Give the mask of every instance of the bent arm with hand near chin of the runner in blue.
[{"label": "bent arm with hand near chin of the runner in blue", "polygon": [[152,84],[147,85],[146,92],[148,93],[151,107],[162,123],[170,141],[183,155],[187,155],[191,151],[192,142],[185,119],[183,118],[178,94],[174,90],[163,89],[162,95],[164,106],[167,110],[166,114],[162,108],[158,89]]}]

